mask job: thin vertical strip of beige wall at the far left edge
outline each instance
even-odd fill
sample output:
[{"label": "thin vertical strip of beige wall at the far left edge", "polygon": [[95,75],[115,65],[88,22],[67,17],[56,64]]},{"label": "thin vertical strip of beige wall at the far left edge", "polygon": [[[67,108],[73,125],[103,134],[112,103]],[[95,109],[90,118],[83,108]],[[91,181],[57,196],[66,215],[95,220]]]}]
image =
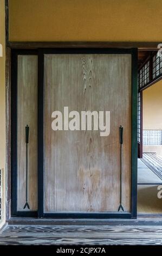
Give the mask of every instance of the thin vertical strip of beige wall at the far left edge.
[{"label": "thin vertical strip of beige wall at the far left edge", "polygon": [[0,169],[2,173],[2,220],[5,222],[5,8],[0,0],[0,44],[3,46],[3,57],[0,57]]}]

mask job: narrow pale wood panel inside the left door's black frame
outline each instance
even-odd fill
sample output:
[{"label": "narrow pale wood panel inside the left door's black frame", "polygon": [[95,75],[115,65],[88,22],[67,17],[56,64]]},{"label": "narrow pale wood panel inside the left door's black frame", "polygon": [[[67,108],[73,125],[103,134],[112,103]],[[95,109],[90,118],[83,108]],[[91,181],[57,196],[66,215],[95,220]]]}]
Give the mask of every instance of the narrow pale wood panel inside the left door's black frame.
[{"label": "narrow pale wood panel inside the left door's black frame", "polygon": [[[25,204],[26,145],[25,126],[29,125],[28,200],[37,210],[37,56],[18,56],[17,78],[17,210]],[[27,211],[26,208],[24,211]]]}]

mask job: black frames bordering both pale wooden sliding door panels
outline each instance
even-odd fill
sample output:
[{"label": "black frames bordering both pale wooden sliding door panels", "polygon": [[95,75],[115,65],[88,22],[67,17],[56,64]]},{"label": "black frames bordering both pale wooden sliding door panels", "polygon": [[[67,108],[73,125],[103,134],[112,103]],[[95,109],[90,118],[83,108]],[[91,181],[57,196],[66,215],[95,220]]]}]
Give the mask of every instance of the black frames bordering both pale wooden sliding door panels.
[{"label": "black frames bordering both pale wooden sliding door panels", "polygon": [[[96,49],[96,48],[62,48],[62,49],[40,49],[38,50],[38,123],[42,124],[43,121],[43,54],[47,52],[57,53],[129,53],[132,54],[132,203],[131,213],[105,213],[105,214],[44,214],[43,213],[43,125],[38,125],[38,217],[77,217],[77,218],[136,218],[137,217],[137,49],[119,50],[119,49]],[[16,195],[16,83],[17,83],[17,55],[18,54],[36,54],[32,50],[12,50],[12,103],[11,103],[11,143],[12,143],[12,192]],[[13,99],[14,97],[14,99]],[[12,215],[15,216],[36,216],[36,212],[17,212],[16,210],[16,196],[12,193]]]}]

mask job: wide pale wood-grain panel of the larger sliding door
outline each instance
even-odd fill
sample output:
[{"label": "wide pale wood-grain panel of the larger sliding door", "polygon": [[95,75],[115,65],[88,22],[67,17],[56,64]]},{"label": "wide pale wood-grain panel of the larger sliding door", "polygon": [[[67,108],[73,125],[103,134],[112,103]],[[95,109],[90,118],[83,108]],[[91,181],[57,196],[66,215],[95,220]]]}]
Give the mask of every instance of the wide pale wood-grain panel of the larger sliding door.
[{"label": "wide pale wood-grain panel of the larger sliding door", "polygon": [[[44,211],[118,211],[122,125],[122,204],[129,212],[131,55],[46,54],[44,88]],[[111,111],[111,134],[51,130],[51,113],[64,106],[69,112]]]}]

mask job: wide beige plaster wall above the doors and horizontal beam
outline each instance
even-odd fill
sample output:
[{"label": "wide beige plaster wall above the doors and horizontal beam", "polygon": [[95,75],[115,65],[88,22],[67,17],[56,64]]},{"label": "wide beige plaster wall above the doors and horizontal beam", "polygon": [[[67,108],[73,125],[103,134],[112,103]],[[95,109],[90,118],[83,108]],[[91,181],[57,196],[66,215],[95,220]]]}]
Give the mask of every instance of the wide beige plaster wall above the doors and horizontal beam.
[{"label": "wide beige plaster wall above the doors and horizontal beam", "polygon": [[10,41],[161,41],[161,0],[9,0]]}]

